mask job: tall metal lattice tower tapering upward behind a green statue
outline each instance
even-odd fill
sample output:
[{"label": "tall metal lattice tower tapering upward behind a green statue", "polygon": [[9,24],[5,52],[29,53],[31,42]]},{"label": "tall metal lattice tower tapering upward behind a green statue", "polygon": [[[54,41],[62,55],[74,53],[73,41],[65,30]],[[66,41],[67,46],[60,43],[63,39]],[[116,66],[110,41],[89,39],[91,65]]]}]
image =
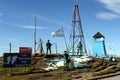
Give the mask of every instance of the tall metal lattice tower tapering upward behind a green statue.
[{"label": "tall metal lattice tower tapering upward behind a green statue", "polygon": [[69,51],[73,55],[75,55],[77,51],[77,44],[80,41],[82,43],[82,55],[87,54],[78,5],[74,6],[74,12],[73,12],[73,18],[72,18],[72,29],[71,29],[69,40],[70,40]]}]

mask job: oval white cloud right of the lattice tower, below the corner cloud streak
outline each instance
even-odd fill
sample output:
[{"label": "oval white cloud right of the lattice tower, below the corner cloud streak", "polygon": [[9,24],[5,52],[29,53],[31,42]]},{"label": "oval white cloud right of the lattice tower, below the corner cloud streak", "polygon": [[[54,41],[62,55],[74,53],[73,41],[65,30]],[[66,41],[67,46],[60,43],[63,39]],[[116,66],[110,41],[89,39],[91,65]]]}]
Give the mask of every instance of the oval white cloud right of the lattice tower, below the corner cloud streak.
[{"label": "oval white cloud right of the lattice tower, below the corner cloud streak", "polygon": [[99,19],[104,19],[104,20],[114,20],[119,18],[119,15],[116,15],[114,13],[108,13],[108,12],[102,12],[96,15],[97,18]]}]

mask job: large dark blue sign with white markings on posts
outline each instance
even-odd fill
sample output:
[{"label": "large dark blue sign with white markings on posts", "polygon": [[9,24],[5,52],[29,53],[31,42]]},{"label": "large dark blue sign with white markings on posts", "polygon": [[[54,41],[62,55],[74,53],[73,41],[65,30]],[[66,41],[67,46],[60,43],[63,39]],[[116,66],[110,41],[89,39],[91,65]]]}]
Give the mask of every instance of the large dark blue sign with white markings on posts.
[{"label": "large dark blue sign with white markings on posts", "polygon": [[28,67],[31,65],[31,54],[4,53],[4,68]]}]

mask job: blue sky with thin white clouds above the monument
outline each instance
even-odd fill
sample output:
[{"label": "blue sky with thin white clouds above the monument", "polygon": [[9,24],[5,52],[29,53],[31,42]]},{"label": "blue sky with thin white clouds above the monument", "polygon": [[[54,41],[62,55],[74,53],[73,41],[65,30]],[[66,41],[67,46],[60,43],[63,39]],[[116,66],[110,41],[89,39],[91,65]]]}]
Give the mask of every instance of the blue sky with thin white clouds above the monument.
[{"label": "blue sky with thin white clouds above the monument", "polygon": [[49,39],[63,53],[64,38],[51,33],[63,27],[69,41],[75,4],[79,6],[87,50],[92,52],[93,35],[100,32],[105,36],[107,52],[119,55],[120,0],[0,0],[0,56],[9,52],[9,43],[12,52],[19,52],[19,47],[32,47],[34,51],[35,16],[37,45],[41,38],[46,51]]}]

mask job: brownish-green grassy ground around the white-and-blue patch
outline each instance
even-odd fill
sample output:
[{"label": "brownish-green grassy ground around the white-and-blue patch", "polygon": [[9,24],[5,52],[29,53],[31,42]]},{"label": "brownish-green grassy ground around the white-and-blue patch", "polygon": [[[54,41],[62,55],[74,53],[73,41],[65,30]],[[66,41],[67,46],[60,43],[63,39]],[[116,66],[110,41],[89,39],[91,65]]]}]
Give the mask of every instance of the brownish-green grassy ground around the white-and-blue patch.
[{"label": "brownish-green grassy ground around the white-and-blue patch", "polygon": [[36,57],[40,59],[32,60],[32,66],[27,67],[26,72],[24,67],[12,68],[11,76],[9,75],[9,69],[3,68],[3,58],[0,58],[0,80],[71,80],[120,71],[120,59],[118,58],[116,62],[94,59],[91,62],[87,62],[89,66],[86,68],[64,71],[64,67],[61,67],[58,70],[48,72],[42,69],[47,67],[47,61],[44,60],[44,56],[37,55]]}]

